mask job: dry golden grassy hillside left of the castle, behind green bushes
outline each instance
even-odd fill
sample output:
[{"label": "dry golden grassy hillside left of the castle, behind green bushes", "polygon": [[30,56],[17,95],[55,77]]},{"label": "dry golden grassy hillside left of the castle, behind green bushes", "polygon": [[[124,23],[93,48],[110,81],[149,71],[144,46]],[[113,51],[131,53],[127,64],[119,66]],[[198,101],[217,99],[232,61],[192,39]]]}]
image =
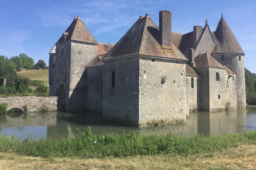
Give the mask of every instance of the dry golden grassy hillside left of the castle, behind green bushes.
[{"label": "dry golden grassy hillside left of the castle, behind green bushes", "polygon": [[17,74],[31,80],[49,81],[49,69],[19,71]]}]

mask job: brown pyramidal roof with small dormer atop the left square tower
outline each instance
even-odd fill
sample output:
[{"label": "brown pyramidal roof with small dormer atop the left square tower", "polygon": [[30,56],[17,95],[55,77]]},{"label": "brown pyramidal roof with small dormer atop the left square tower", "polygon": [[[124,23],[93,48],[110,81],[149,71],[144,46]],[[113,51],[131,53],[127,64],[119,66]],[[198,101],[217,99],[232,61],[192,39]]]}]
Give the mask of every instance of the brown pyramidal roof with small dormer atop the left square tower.
[{"label": "brown pyramidal roof with small dormer atop the left square tower", "polygon": [[85,27],[84,23],[78,16],[73,20],[68,29],[62,34],[61,38],[56,44],[67,42],[70,40],[88,42],[97,44],[98,42],[93,38],[89,30]]}]

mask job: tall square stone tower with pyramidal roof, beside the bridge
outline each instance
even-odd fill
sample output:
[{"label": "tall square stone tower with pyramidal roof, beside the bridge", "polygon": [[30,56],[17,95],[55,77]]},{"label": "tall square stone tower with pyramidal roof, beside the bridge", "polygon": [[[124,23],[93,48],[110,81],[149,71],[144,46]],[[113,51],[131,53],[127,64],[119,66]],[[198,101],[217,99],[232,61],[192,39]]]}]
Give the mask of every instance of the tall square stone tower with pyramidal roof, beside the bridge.
[{"label": "tall square stone tower with pyramidal roof, beside the bridge", "polygon": [[55,44],[55,71],[50,96],[63,97],[65,110],[82,110],[85,95],[82,75],[87,64],[97,56],[97,44],[79,16]]}]

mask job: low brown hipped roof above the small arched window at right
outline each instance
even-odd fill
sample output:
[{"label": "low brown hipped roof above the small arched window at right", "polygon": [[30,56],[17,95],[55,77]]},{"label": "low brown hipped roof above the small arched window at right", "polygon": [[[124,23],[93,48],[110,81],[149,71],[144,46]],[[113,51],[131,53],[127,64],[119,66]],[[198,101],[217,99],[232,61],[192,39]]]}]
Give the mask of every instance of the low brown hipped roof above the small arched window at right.
[{"label": "low brown hipped roof above the small arched window at right", "polygon": [[194,59],[196,65],[195,67],[217,67],[225,68],[217,60],[215,60],[210,54],[198,54]]}]

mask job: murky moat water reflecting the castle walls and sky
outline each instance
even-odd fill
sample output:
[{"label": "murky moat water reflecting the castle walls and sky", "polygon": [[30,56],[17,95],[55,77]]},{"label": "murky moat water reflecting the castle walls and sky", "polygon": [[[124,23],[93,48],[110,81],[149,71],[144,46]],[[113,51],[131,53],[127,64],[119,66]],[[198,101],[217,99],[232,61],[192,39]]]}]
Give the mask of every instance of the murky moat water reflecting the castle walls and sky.
[{"label": "murky moat water reflecting the castle walls and sky", "polygon": [[100,114],[76,112],[43,112],[43,113],[7,113],[0,115],[0,132],[25,138],[31,133],[37,139],[51,137],[74,137],[79,131],[84,132],[88,127],[94,134],[113,132],[122,134],[138,130],[142,135],[156,133],[164,135],[169,132],[175,134],[225,134],[256,129],[256,106],[248,106],[245,110],[221,112],[190,113],[186,123],[169,124],[150,127],[129,127],[123,124],[103,120]]}]

